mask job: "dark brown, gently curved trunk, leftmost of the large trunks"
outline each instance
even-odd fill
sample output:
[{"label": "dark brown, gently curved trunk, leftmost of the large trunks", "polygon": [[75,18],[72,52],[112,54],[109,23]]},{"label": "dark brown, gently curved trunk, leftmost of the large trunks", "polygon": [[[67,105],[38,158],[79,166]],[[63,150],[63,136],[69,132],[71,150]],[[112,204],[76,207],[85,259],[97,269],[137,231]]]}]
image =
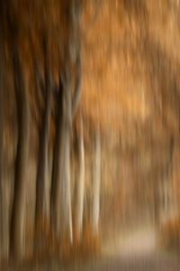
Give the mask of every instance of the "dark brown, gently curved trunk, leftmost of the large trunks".
[{"label": "dark brown, gently curved trunk, leftmost of the large trunks", "polygon": [[23,258],[23,225],[27,179],[26,168],[29,150],[30,109],[27,89],[24,86],[23,70],[16,48],[14,49],[14,89],[17,103],[19,135],[15,163],[10,249],[12,257],[21,260]]}]

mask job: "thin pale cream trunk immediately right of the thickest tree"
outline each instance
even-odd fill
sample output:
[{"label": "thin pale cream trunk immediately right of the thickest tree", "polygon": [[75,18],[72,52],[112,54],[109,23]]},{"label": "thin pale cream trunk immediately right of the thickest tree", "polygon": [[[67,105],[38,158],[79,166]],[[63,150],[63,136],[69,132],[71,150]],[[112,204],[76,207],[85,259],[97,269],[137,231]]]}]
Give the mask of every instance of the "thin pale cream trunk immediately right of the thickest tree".
[{"label": "thin pale cream trunk immediately right of the thickest tree", "polygon": [[83,229],[83,212],[84,212],[84,194],[85,194],[85,145],[84,145],[84,135],[83,135],[83,121],[80,117],[80,128],[78,137],[78,163],[79,170],[78,176],[76,177],[76,194],[75,194],[75,222],[74,222],[74,232],[76,236],[76,241],[79,243],[82,229]]}]

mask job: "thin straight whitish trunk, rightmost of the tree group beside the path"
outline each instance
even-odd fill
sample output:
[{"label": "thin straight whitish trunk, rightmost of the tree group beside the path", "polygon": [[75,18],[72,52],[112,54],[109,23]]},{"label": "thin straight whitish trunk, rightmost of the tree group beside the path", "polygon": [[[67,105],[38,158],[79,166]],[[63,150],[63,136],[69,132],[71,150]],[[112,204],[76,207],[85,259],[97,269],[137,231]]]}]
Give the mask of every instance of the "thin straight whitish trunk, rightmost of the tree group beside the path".
[{"label": "thin straight whitish trunk, rightmost of the tree group beside the path", "polygon": [[99,129],[95,135],[94,145],[94,180],[93,180],[93,234],[98,236],[99,211],[100,211],[100,187],[101,187],[101,138]]}]

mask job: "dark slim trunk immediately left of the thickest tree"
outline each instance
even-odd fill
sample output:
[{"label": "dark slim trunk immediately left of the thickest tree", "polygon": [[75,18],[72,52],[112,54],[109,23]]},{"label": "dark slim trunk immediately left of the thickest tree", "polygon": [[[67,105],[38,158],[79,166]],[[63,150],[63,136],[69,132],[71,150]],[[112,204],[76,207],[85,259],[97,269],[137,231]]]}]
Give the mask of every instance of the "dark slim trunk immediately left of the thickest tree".
[{"label": "dark slim trunk immediately left of the thickest tree", "polygon": [[40,149],[36,181],[35,244],[38,236],[49,230],[49,122],[52,104],[52,88],[47,61],[47,45],[44,44],[45,58],[45,108],[40,130]]}]

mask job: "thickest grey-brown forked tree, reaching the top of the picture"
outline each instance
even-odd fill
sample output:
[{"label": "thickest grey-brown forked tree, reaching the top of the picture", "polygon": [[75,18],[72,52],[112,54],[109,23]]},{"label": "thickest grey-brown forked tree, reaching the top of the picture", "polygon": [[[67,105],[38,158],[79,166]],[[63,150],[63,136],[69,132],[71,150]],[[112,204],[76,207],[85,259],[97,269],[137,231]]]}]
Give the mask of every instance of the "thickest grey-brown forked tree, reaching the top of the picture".
[{"label": "thickest grey-brown forked tree, reaching the top of the picture", "polygon": [[[59,74],[58,121],[51,184],[51,220],[56,235],[70,242],[72,236],[70,134],[81,90],[80,12],[81,1],[72,0],[67,9],[67,48],[65,64]],[[76,66],[73,91],[73,66]],[[60,208],[60,210],[59,210]],[[61,221],[61,224],[60,224]],[[59,232],[60,226],[60,232]]]}]

